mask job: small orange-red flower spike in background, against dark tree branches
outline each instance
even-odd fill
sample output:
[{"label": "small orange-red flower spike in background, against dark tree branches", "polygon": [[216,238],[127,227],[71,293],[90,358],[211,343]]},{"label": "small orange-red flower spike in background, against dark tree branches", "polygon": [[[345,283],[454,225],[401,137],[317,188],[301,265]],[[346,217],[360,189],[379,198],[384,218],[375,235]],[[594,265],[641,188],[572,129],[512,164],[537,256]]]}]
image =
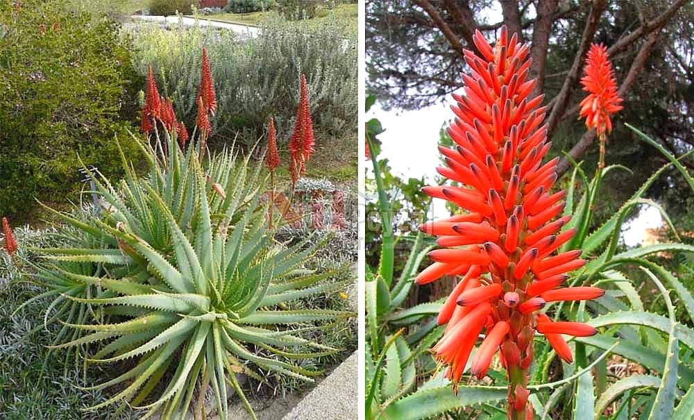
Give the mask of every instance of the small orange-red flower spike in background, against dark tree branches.
[{"label": "small orange-red flower spike in background, against dark tree branches", "polygon": [[588,92],[588,96],[581,101],[581,117],[586,119],[588,128],[595,128],[599,137],[604,136],[612,131],[610,116],[622,109],[622,99],[617,92],[614,71],[604,45],[591,45],[581,84],[583,90]]}]

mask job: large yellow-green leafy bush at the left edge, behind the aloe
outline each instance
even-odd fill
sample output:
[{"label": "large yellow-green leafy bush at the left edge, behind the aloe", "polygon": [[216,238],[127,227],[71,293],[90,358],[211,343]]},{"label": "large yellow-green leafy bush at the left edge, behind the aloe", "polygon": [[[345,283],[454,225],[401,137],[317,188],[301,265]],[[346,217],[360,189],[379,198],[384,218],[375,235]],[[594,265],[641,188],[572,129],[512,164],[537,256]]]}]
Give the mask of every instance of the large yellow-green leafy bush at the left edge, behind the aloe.
[{"label": "large yellow-green leafy bush at the left edge, behind the aloe", "polygon": [[[77,200],[78,156],[121,174],[110,165],[113,139],[135,119],[142,78],[128,43],[112,22],[67,10],[60,0],[22,1],[18,11],[0,2],[0,214],[15,219],[34,198]],[[126,144],[127,156],[135,151]]]}]

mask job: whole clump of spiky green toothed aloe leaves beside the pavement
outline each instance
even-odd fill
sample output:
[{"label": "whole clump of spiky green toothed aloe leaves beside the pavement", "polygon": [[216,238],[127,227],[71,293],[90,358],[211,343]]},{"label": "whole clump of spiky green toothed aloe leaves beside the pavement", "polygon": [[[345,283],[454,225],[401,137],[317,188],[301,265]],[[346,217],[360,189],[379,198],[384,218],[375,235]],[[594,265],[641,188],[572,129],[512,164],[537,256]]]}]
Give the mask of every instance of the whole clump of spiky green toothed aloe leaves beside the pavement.
[{"label": "whole clump of spiky green toothed aloe leaves beside the pavement", "polygon": [[[321,242],[285,246],[273,239],[262,204],[264,179],[248,159],[225,151],[201,163],[199,143],[184,152],[167,133],[162,142],[158,152],[139,144],[149,156],[146,179],[124,161],[121,183],[96,180],[102,209],[88,221],[56,211],[92,240],[42,250],[42,281],[63,305],[99,314],[62,317],[73,335],[56,348],[80,348],[87,362],[127,367],[90,387],[117,392],[88,410],[120,403],[121,409],[146,409],[143,418],[180,419],[193,405],[204,410],[211,387],[217,412],[227,418],[228,384],[255,418],[236,374],[264,380],[255,366],[312,381],[321,372],[291,360],[337,349],[301,333],[350,313],[288,310],[285,303],[343,283],[332,280],[334,271],[306,269]],[[97,269],[73,269],[82,267],[77,264]],[[83,287],[65,293],[63,283]]]}]

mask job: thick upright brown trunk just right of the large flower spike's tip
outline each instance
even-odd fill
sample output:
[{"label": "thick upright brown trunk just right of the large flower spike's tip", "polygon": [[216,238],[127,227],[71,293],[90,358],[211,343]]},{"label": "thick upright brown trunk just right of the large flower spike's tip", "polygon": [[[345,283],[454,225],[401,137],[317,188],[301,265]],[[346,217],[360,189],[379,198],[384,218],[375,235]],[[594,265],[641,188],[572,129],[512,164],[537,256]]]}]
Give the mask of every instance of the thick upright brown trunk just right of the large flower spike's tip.
[{"label": "thick upright brown trunk just right of the large flower spike's tip", "polygon": [[530,58],[532,58],[530,78],[537,78],[532,96],[540,94],[545,84],[545,64],[557,3],[559,3],[558,0],[541,0],[537,6],[537,17],[532,31],[532,47],[530,47]]}]

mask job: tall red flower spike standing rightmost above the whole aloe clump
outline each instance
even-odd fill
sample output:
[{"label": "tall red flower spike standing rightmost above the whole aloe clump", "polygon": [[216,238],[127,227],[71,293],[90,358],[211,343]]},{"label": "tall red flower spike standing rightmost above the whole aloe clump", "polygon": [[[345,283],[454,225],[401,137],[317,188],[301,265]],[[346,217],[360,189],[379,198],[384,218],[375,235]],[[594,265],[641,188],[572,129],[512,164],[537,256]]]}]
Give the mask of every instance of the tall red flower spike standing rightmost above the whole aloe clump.
[{"label": "tall red flower spike standing rightmost above the whole aloe clump", "polygon": [[308,87],[306,85],[306,76],[302,74],[301,97],[298,110],[296,111],[296,124],[294,124],[294,133],[291,134],[291,140],[289,140],[289,151],[293,161],[289,167],[294,183],[296,183],[300,175],[306,174],[306,162],[310,160],[312,153],[315,151],[314,143]]}]

